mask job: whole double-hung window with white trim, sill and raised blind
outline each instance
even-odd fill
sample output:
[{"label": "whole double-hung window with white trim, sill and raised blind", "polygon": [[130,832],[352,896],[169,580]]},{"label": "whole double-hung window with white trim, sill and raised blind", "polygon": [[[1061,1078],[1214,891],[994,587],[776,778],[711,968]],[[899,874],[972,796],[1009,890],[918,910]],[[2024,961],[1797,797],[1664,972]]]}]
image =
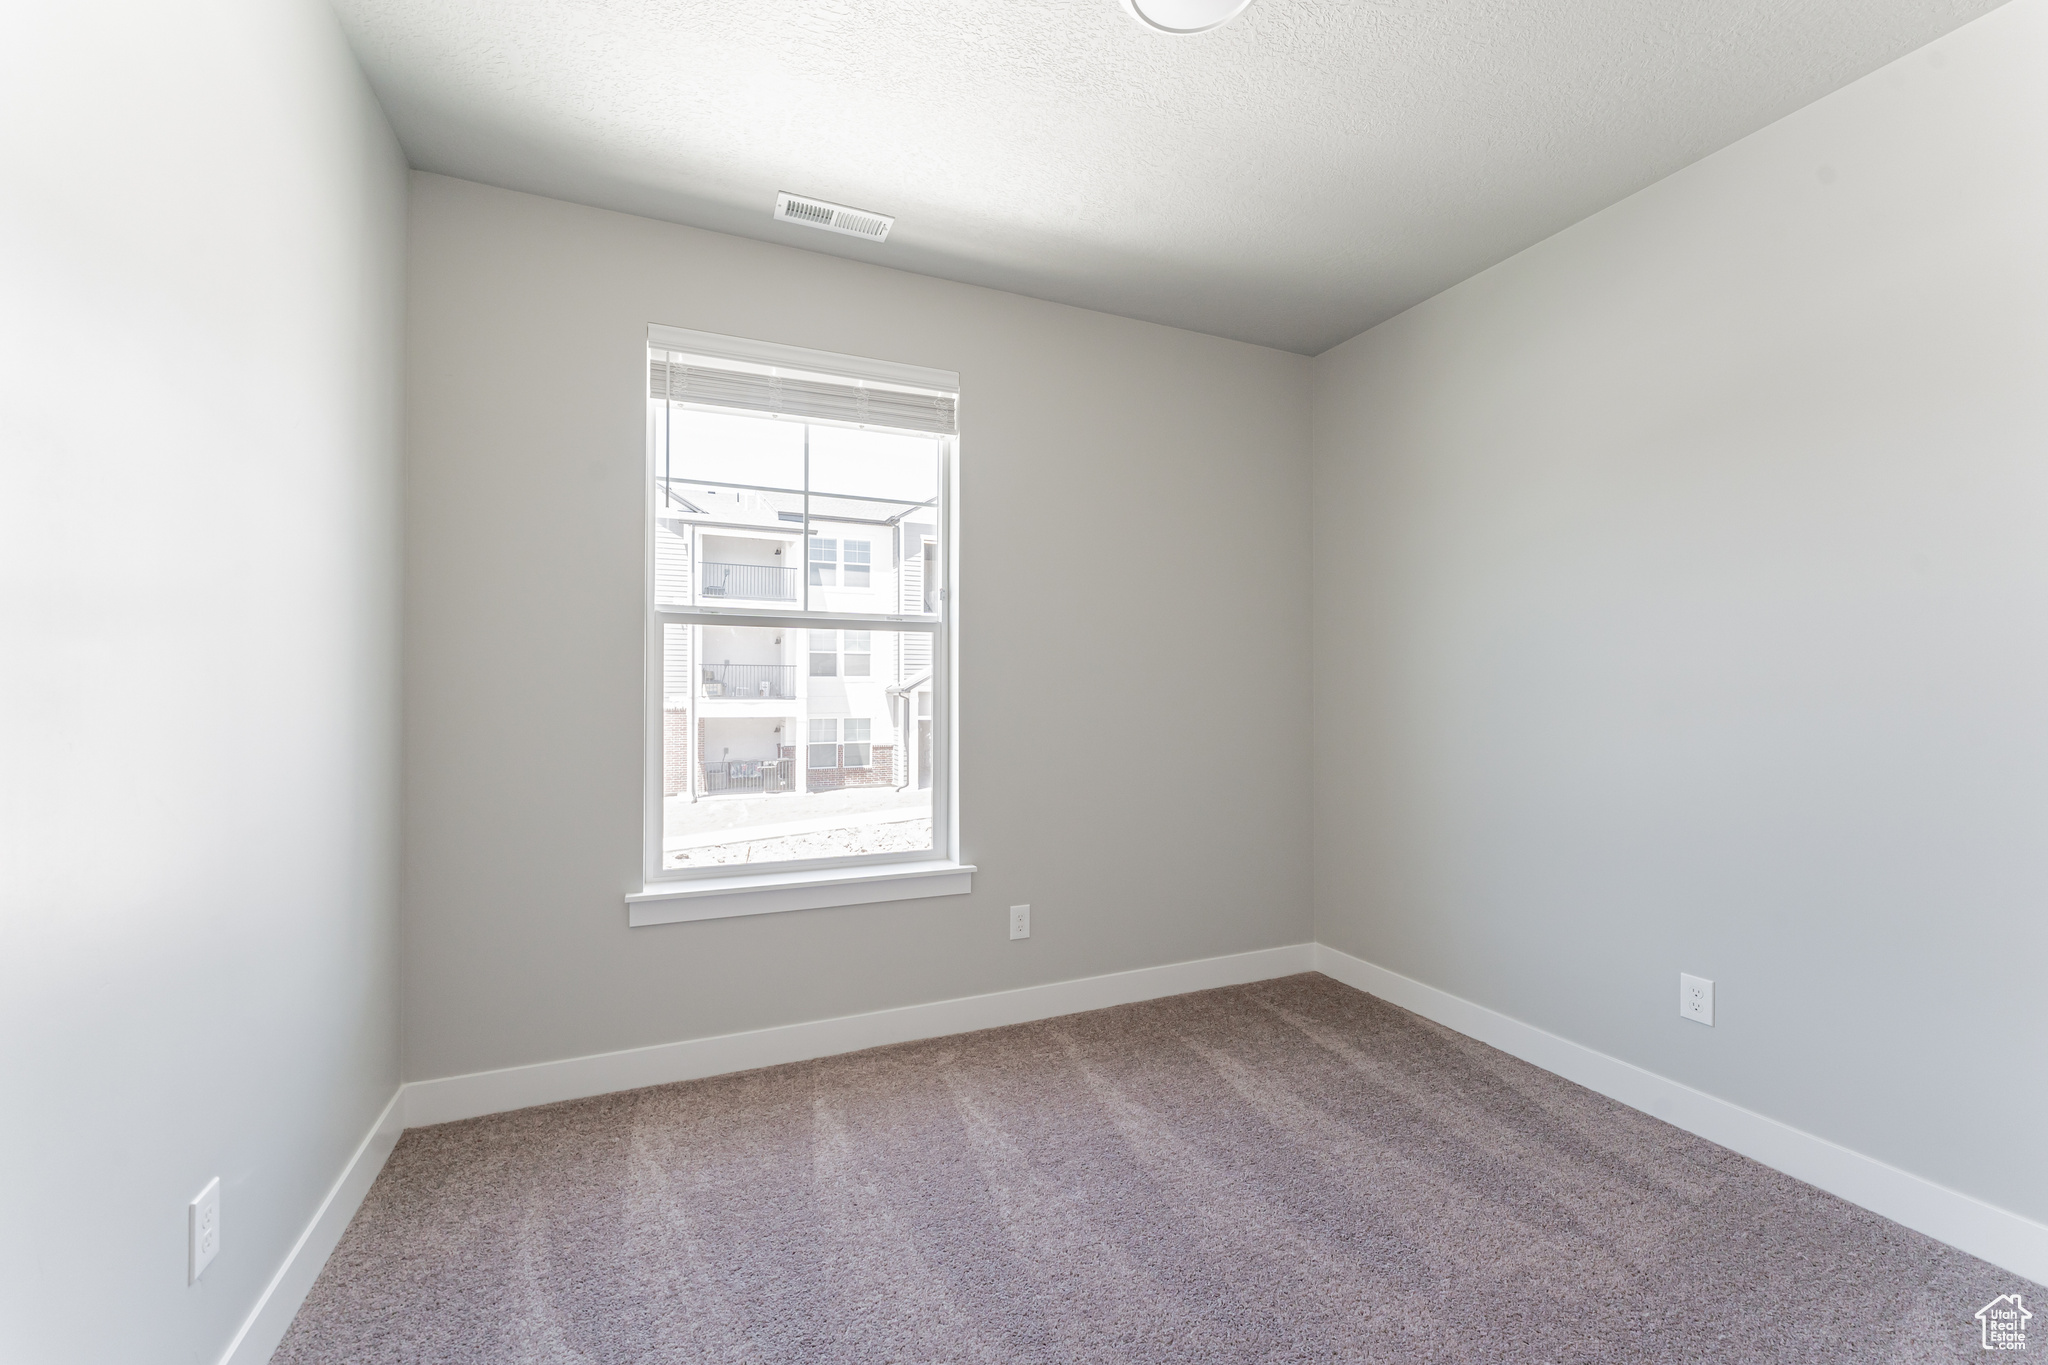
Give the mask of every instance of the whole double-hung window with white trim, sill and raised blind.
[{"label": "whole double-hung window with white trim, sill and raised blind", "polygon": [[940,370],[649,327],[633,923],[956,894]]}]

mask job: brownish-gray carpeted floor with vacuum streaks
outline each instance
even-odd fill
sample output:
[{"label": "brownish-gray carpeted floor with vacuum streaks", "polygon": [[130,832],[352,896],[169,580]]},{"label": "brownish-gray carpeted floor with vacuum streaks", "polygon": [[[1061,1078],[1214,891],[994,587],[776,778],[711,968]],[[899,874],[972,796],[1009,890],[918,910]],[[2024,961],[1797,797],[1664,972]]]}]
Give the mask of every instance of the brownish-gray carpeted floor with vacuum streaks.
[{"label": "brownish-gray carpeted floor with vacuum streaks", "polygon": [[1290,976],[408,1132],[274,1363],[1952,1361],[2013,1289]]}]

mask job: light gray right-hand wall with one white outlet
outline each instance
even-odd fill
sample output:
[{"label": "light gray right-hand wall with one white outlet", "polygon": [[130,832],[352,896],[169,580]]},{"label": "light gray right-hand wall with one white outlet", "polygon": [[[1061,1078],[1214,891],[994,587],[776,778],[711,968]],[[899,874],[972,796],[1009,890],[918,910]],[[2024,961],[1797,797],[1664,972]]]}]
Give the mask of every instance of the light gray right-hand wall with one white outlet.
[{"label": "light gray right-hand wall with one white outlet", "polygon": [[1327,352],[1313,473],[1319,937],[2038,1220],[2044,70],[2011,4]]}]

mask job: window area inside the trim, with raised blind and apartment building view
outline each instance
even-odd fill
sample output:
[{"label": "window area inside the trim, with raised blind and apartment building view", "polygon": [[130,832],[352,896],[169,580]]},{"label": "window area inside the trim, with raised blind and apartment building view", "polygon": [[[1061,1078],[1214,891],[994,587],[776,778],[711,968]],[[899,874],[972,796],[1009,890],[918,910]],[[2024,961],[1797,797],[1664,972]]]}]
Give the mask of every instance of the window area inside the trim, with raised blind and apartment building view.
[{"label": "window area inside the trim, with raised blind and apartment building view", "polygon": [[659,870],[932,853],[948,438],[659,393],[649,432]]}]

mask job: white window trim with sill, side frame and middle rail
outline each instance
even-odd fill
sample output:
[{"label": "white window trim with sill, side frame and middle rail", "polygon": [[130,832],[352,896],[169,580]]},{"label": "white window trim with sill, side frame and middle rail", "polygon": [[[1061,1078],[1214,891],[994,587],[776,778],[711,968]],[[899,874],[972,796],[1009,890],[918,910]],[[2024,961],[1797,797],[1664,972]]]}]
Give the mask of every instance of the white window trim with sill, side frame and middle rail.
[{"label": "white window trim with sill, side frame and middle rail", "polygon": [[[862,356],[842,356],[834,352],[803,350],[774,342],[750,342],[725,338],[709,332],[686,332],[682,327],[647,327],[647,346],[680,350],[698,356],[743,360],[752,364],[786,366],[793,370],[842,375],[848,379],[870,379],[879,383],[913,385],[958,393],[961,379],[952,370],[932,370],[924,366],[897,364],[889,360],[868,360]],[[645,350],[641,352],[645,366]],[[645,389],[645,385],[643,385]],[[940,602],[936,622],[930,616],[866,614],[866,612],[778,612],[745,608],[690,608],[672,610],[653,604],[647,591],[645,620],[645,698],[647,747],[643,759],[643,868],[641,888],[625,896],[627,923],[664,925],[694,919],[725,919],[733,915],[774,915],[782,911],[831,909],[844,905],[874,905],[883,900],[913,900],[924,896],[965,896],[973,890],[975,866],[961,862],[961,757],[958,757],[958,706],[954,704],[952,679],[958,675],[958,438],[940,436]],[[641,536],[643,536],[643,581],[653,583],[653,440],[645,442],[645,471],[641,477]],[[809,577],[809,573],[805,575]],[[823,620],[819,620],[823,616]],[[752,618],[752,620],[748,620]],[[694,876],[678,876],[659,868],[662,860],[662,630],[666,624],[817,624],[821,628],[846,630],[872,624],[881,630],[918,630],[936,634],[932,651],[932,749],[934,749],[934,790],[932,790],[932,851],[924,855],[883,862],[877,855],[819,860],[813,864],[782,864],[754,874],[707,876],[711,870],[692,870]],[[915,716],[909,724],[915,724]],[[872,741],[870,741],[872,743]]]}]

